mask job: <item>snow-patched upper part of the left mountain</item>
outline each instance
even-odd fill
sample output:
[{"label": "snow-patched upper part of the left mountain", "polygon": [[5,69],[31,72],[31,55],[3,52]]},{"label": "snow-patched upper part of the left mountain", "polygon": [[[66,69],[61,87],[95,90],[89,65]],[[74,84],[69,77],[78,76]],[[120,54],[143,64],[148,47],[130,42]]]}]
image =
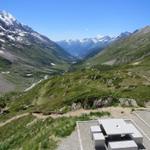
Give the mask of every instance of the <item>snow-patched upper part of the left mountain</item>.
[{"label": "snow-patched upper part of the left mountain", "polygon": [[0,11],[0,43],[9,40],[30,45],[32,43],[29,41],[35,38],[40,42],[49,42],[49,39],[17,21],[9,12]]}]

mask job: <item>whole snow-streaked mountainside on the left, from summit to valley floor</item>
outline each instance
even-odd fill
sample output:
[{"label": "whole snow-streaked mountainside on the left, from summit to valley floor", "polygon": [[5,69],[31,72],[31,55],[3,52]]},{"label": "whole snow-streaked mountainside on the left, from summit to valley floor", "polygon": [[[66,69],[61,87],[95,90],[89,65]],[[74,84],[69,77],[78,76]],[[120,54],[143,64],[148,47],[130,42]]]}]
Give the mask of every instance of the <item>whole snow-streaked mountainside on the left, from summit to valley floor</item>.
[{"label": "whole snow-streaked mountainside on the left, from summit to valley floor", "polygon": [[18,83],[34,76],[31,81],[39,74],[67,70],[71,59],[55,42],[10,13],[0,12],[0,72],[9,81]]}]

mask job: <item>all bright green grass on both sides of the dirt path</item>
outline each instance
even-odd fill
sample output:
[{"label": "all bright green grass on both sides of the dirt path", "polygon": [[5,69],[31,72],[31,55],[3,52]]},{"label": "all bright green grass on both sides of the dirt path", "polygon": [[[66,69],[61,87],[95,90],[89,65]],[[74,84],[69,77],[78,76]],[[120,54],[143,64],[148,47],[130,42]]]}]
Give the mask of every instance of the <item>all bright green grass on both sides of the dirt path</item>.
[{"label": "all bright green grass on both sides of the dirt path", "polygon": [[[150,57],[140,62],[110,67],[96,66],[51,77],[26,93],[10,93],[0,98],[0,107],[8,108],[0,115],[0,121],[25,112],[69,111],[73,102],[93,108],[92,101],[113,97],[110,104],[116,105],[120,97],[134,98],[143,105],[150,100]],[[89,120],[108,112],[91,113],[80,117],[47,118],[40,120],[29,114],[0,127],[0,149],[51,149],[71,134],[78,120]]]}]

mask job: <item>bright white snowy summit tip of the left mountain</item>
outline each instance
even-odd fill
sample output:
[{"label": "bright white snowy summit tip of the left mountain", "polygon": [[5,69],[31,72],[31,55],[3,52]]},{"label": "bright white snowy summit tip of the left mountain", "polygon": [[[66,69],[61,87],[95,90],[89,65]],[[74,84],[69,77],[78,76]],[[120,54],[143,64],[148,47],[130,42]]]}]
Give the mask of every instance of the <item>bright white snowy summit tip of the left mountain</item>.
[{"label": "bright white snowy summit tip of the left mountain", "polygon": [[13,25],[13,23],[16,21],[16,18],[6,11],[0,11],[0,20],[6,25]]}]

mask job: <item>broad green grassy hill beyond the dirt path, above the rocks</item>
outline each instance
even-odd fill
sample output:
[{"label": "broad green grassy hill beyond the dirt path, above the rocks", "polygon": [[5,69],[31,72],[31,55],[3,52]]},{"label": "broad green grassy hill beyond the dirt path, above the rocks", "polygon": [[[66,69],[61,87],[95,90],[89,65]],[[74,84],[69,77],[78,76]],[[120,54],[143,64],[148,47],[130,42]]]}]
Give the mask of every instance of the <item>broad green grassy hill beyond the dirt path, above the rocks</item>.
[{"label": "broad green grassy hill beyond the dirt path, above the rocks", "polygon": [[[133,98],[139,105],[150,100],[150,58],[118,66],[97,66],[57,75],[38,84],[32,90],[21,93],[17,98],[6,101],[10,113],[24,111],[59,112],[70,109],[72,103],[81,103],[93,108],[93,101],[112,97],[110,105],[118,98]],[[106,71],[107,70],[107,71]]]}]

